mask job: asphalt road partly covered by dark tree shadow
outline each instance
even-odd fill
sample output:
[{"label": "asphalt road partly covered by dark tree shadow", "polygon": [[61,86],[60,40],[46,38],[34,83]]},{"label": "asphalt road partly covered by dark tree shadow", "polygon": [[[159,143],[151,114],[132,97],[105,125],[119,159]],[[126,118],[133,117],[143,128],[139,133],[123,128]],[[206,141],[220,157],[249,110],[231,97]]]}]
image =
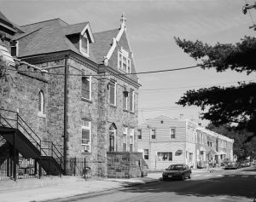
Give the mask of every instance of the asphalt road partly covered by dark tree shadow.
[{"label": "asphalt road partly covered by dark tree shadow", "polygon": [[[105,193],[55,202],[212,202],[247,201],[256,198],[256,168],[195,173],[185,181],[160,181]],[[255,200],[256,201],[256,200]]]}]

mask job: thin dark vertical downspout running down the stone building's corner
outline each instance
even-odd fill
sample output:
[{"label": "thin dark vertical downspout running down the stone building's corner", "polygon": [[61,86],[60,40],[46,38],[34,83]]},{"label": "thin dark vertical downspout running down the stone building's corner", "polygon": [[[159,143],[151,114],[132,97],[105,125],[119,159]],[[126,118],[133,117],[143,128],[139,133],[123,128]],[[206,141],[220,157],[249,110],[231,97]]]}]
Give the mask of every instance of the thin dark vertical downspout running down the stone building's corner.
[{"label": "thin dark vertical downspout running down the stone building's corner", "polygon": [[65,58],[65,73],[64,73],[64,142],[63,142],[63,166],[64,173],[67,171],[67,58]]}]

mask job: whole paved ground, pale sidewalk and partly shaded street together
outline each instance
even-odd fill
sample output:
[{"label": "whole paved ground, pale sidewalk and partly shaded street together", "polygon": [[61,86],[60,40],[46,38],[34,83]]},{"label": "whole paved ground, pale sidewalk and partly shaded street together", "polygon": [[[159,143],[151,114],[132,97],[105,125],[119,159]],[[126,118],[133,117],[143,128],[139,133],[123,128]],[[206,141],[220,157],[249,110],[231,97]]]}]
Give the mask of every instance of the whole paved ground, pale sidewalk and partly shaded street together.
[{"label": "whole paved ground, pale sidewalk and partly shaded street together", "polygon": [[[193,170],[191,180],[159,181],[160,172],[135,179],[76,179],[35,188],[3,188],[1,202],[31,201],[252,201],[256,197],[256,168]],[[73,178],[72,178],[73,179]],[[151,183],[148,183],[151,182]]]}]

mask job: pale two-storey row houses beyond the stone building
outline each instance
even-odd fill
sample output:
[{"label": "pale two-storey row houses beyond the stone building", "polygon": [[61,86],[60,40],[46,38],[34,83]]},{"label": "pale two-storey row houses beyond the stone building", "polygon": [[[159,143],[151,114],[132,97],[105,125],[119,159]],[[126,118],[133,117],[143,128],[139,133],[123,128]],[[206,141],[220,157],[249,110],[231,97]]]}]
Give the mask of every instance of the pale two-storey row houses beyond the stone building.
[{"label": "pale two-storey row houses beyond the stone building", "polygon": [[233,158],[234,141],[190,120],[168,116],[149,119],[138,126],[138,151],[150,170],[170,164],[203,167]]}]

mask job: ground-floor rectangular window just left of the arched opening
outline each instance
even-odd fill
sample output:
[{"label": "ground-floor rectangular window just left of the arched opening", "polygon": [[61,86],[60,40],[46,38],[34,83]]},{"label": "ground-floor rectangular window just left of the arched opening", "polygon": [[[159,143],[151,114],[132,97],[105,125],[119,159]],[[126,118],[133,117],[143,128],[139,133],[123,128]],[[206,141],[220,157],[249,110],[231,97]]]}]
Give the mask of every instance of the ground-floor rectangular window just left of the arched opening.
[{"label": "ground-floor rectangular window just left of the arched opening", "polygon": [[82,152],[90,153],[91,141],[91,122],[83,120],[82,122]]}]

